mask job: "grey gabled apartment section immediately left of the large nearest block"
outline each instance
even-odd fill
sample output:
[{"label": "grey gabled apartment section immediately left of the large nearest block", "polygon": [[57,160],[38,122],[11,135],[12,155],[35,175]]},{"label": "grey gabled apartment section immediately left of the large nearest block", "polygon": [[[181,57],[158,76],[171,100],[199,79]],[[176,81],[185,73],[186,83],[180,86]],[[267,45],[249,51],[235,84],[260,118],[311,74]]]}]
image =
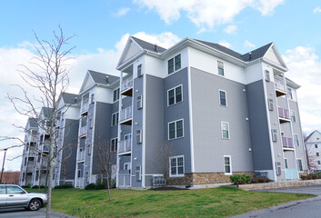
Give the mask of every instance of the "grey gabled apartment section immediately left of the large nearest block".
[{"label": "grey gabled apartment section immediately left of the large nearest block", "polygon": [[75,187],[82,188],[105,177],[105,162],[102,159],[105,154],[110,154],[108,162],[115,163],[119,77],[88,70],[79,97],[81,107]]}]

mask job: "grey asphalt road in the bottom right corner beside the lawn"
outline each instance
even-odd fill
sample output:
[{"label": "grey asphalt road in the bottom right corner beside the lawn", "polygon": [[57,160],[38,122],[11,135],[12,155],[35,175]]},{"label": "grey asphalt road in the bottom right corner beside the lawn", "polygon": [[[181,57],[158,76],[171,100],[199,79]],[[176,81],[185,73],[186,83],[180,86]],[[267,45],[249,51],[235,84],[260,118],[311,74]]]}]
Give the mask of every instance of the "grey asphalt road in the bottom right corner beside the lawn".
[{"label": "grey asphalt road in the bottom right corner beside the lawn", "polygon": [[275,192],[275,193],[313,193],[318,195],[315,198],[300,200],[290,203],[283,203],[278,206],[270,207],[251,213],[245,213],[234,216],[234,218],[320,218],[321,217],[321,185],[258,190],[257,192]]}]

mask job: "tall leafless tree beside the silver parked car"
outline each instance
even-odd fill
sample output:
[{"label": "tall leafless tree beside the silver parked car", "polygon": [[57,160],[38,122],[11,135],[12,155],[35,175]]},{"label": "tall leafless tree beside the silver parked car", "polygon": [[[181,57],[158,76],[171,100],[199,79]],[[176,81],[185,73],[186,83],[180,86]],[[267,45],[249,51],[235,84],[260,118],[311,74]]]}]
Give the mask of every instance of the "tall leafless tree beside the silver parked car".
[{"label": "tall leafless tree beside the silver parked car", "polygon": [[[34,32],[35,34],[35,32]],[[65,36],[62,28],[59,26],[59,31],[54,31],[54,38],[52,40],[39,39],[35,34],[37,44],[34,46],[35,57],[29,61],[28,64],[22,64],[22,70],[19,70],[21,78],[29,88],[35,89],[39,96],[30,96],[27,89],[20,84],[15,84],[23,94],[23,96],[13,96],[8,94],[8,99],[12,102],[15,110],[19,114],[24,114],[27,117],[34,117],[37,119],[38,126],[46,134],[49,135],[49,151],[47,155],[48,162],[48,203],[46,207],[45,217],[50,217],[51,209],[51,193],[52,193],[52,177],[54,170],[56,147],[55,139],[55,119],[57,112],[57,100],[61,92],[65,92],[68,84],[68,60],[71,58],[71,51],[75,48],[69,45],[69,41],[74,37]],[[48,117],[41,116],[39,108],[50,108],[51,113]],[[18,128],[24,129],[22,126]],[[15,137],[3,137],[3,139],[18,139]],[[19,139],[18,139],[19,140]],[[19,140],[22,142],[21,140]],[[16,146],[21,146],[19,144]]]}]

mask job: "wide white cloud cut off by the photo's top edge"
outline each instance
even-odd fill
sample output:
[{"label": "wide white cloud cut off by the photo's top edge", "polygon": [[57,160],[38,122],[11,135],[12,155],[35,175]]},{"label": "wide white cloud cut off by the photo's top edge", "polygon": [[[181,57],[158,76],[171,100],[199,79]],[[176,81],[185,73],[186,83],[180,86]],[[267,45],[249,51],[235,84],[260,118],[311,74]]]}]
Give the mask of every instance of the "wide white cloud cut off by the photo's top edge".
[{"label": "wide white cloud cut off by the photo's top edge", "polygon": [[181,12],[199,28],[212,29],[215,25],[228,24],[246,7],[259,10],[262,15],[271,15],[284,0],[133,0],[134,3],[155,10],[166,24],[178,20]]}]

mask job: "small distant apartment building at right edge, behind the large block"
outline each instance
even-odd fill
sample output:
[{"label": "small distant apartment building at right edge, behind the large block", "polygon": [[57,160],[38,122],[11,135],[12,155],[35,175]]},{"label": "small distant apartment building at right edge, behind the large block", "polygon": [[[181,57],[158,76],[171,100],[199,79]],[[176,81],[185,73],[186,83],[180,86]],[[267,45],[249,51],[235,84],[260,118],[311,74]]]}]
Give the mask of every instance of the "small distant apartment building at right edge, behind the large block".
[{"label": "small distant apartment building at right edge, behind the large block", "polygon": [[317,130],[305,138],[306,153],[308,154],[311,170],[321,171],[321,133]]}]

